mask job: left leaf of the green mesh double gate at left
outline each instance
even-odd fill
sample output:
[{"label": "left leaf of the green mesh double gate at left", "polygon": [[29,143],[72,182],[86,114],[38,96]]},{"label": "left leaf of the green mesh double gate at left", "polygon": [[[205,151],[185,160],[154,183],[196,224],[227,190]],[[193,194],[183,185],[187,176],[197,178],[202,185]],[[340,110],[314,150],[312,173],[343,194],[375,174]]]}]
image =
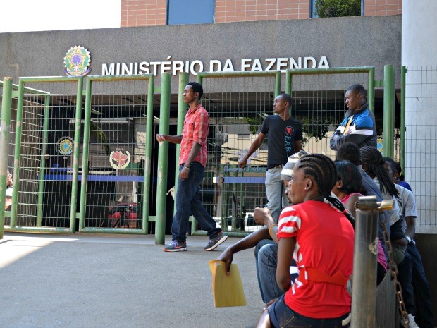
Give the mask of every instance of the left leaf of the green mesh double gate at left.
[{"label": "left leaf of the green mesh double gate at left", "polygon": [[[35,83],[54,91],[26,87]],[[20,78],[8,229],[74,231],[78,167],[71,166],[78,159],[81,98],[82,78]],[[68,153],[60,140],[68,141]]]}]

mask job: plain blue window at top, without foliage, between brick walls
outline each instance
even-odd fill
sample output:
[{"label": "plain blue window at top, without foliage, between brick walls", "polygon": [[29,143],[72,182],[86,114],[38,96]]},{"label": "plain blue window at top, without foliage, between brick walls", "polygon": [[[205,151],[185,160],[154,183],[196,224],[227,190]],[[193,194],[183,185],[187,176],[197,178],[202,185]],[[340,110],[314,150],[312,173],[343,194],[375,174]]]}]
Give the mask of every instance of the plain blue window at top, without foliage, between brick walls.
[{"label": "plain blue window at top, without foliage, between brick walls", "polygon": [[167,24],[214,23],[214,0],[168,0]]}]

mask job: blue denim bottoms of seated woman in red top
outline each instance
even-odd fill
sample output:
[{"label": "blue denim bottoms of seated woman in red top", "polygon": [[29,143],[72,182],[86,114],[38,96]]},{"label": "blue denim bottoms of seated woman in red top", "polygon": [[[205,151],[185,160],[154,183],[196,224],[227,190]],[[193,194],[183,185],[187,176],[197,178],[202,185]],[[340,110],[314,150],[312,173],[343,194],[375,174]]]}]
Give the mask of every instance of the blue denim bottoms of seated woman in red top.
[{"label": "blue denim bottoms of seated woman in red top", "polygon": [[[272,327],[274,328],[341,328],[341,321],[345,319],[349,313],[342,317],[333,319],[313,319],[304,317],[296,312],[293,312],[285,304],[284,296],[281,296],[275,303],[269,306],[269,317]],[[348,327],[345,324],[344,327]]]}]

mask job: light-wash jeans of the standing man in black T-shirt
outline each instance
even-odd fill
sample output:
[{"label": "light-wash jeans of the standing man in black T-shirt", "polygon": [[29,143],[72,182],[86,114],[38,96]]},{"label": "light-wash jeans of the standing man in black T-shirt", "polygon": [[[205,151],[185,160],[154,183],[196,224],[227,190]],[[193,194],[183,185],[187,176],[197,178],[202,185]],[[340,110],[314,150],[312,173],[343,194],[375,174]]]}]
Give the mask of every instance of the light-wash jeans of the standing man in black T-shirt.
[{"label": "light-wash jeans of the standing man in black T-shirt", "polygon": [[285,197],[285,187],[281,180],[282,168],[268,169],[266,172],[266,194],[267,207],[269,207],[271,216],[275,222],[278,222],[279,214],[284,207],[290,205],[288,198]]}]

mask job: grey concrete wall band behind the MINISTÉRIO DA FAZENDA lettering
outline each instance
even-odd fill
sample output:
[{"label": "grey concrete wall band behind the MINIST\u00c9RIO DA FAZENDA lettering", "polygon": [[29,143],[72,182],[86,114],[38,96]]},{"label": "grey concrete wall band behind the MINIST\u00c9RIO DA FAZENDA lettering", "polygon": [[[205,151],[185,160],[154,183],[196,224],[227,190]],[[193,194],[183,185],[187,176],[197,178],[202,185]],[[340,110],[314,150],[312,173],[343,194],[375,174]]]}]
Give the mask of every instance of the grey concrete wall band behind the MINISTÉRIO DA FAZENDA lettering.
[{"label": "grey concrete wall band behind the MINIST\u00c9RIO DA FAZENDA lettering", "polygon": [[[227,59],[240,71],[241,59],[326,56],[329,66],[400,64],[400,16],[276,20],[204,25],[70,30],[0,34],[0,77],[63,75],[63,57],[80,45],[91,55],[92,75],[102,63],[195,61],[209,71],[212,59]],[[274,68],[276,69],[276,68]],[[159,79],[157,80],[159,83]],[[173,79],[176,91],[177,78]]]}]

